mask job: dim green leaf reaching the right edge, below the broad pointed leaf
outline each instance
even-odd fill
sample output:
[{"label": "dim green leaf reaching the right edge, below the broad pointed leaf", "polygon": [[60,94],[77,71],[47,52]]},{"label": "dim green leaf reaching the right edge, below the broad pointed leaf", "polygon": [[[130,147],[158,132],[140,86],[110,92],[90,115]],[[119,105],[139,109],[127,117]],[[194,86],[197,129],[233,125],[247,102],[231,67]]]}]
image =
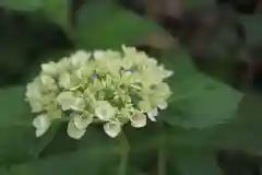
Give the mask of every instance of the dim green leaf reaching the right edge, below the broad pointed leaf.
[{"label": "dim green leaf reaching the right edge, below the broad pointed leaf", "polygon": [[181,147],[241,150],[261,155],[261,104],[260,93],[248,93],[229,122],[204,129],[170,127],[168,140]]}]

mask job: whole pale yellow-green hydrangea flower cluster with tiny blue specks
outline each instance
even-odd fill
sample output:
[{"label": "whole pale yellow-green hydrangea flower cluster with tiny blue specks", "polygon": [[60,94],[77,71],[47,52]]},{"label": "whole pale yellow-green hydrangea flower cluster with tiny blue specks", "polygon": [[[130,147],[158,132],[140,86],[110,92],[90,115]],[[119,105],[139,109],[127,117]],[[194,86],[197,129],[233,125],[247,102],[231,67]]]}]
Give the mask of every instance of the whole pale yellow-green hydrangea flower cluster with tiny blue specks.
[{"label": "whole pale yellow-green hydrangea flower cluster with tiny blue specks", "polygon": [[92,122],[102,122],[115,138],[127,122],[141,128],[147,118],[156,121],[158,109],[167,107],[171,95],[164,82],[171,74],[146,54],[126,46],[121,52],[79,50],[44,63],[26,91],[26,101],[37,113],[33,120],[36,137],[55,119],[69,119],[67,132],[74,139],[83,137]]}]

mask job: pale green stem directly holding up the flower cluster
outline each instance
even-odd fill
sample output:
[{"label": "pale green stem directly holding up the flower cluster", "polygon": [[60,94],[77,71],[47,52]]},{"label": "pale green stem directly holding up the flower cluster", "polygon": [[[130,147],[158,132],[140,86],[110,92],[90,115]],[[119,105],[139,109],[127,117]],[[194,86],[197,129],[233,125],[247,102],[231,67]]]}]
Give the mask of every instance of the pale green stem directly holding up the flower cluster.
[{"label": "pale green stem directly holding up the flower cluster", "polygon": [[129,141],[123,132],[119,135],[119,143],[120,143],[120,163],[118,167],[118,175],[127,174],[127,166],[129,160]]}]

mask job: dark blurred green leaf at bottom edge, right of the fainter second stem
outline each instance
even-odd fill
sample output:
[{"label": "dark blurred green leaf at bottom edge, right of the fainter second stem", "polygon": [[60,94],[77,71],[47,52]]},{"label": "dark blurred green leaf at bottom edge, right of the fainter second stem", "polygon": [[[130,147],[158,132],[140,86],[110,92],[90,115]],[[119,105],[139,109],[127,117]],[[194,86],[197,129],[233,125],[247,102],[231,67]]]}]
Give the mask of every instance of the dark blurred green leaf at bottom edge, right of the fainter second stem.
[{"label": "dark blurred green leaf at bottom edge, right of the fainter second stem", "polygon": [[179,175],[223,175],[216,163],[214,151],[171,148],[168,155],[169,161],[177,167]]}]

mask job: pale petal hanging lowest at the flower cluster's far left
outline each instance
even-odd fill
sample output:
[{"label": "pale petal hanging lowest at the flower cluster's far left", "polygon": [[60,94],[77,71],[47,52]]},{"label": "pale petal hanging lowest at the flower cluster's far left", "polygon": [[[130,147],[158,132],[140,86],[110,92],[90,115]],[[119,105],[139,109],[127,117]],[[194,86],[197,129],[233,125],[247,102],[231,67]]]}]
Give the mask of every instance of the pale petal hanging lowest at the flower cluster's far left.
[{"label": "pale petal hanging lowest at the flower cluster's far left", "polygon": [[41,114],[37,116],[33,120],[33,126],[36,128],[36,137],[38,138],[43,136],[48,130],[50,125],[51,125],[51,121],[49,120],[47,115]]}]

